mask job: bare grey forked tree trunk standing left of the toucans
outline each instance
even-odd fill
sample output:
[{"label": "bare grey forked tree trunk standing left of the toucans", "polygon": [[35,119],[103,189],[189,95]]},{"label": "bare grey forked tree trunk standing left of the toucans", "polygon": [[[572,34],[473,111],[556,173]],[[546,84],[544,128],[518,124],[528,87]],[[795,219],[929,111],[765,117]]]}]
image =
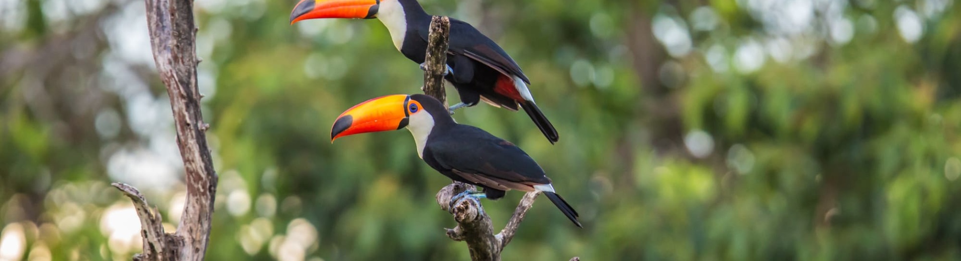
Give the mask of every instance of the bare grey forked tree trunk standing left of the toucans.
[{"label": "bare grey forked tree trunk standing left of the toucans", "polygon": [[143,253],[135,260],[203,260],[210,235],[213,198],[217,175],[207,146],[206,131],[200,111],[197,89],[197,59],[191,0],[146,0],[150,43],[160,73],[167,87],[177,129],[177,145],[184,159],[186,202],[176,233],[164,233],[160,213],[150,207],[136,188],[120,183],[120,189],[134,201],[140,217]]}]

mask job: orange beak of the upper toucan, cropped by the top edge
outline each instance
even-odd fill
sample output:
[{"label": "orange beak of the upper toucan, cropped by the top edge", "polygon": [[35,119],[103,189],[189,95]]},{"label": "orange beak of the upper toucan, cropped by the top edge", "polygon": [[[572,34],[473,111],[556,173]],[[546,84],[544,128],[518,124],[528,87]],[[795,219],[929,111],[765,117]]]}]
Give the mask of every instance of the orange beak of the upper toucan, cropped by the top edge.
[{"label": "orange beak of the upper toucan, cropped by the top edge", "polygon": [[319,18],[374,18],[380,0],[301,0],[290,12],[290,24]]}]

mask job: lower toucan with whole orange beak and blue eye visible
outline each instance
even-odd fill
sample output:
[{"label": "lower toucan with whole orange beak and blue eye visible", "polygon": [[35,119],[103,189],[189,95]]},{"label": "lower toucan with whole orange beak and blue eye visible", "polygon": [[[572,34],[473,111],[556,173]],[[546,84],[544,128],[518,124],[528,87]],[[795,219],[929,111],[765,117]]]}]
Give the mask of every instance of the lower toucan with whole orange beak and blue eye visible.
[{"label": "lower toucan with whole orange beak and blue eye visible", "polygon": [[351,107],[333,123],[331,142],[347,135],[403,128],[413,134],[417,155],[431,168],[447,178],[483,188],[461,193],[455,200],[497,200],[511,189],[540,191],[581,226],[578,212],[556,194],[551,178],[530,155],[487,131],[457,124],[447,107],[431,96],[388,95]]}]

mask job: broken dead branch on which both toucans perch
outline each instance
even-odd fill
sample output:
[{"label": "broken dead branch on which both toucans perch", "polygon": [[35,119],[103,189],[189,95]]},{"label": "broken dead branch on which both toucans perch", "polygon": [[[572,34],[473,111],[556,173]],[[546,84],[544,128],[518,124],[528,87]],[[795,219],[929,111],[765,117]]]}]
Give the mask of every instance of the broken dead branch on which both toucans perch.
[{"label": "broken dead branch on which both toucans perch", "polygon": [[[440,100],[447,107],[446,90],[444,89],[444,71],[447,69],[447,48],[450,37],[451,21],[448,17],[433,16],[431,19],[431,35],[428,36],[427,57],[424,70],[424,93]],[[521,224],[540,192],[528,192],[517,205],[514,215],[510,217],[504,229],[494,234],[494,225],[490,217],[483,212],[483,206],[475,201],[462,201],[448,209],[451,198],[474,186],[457,182],[444,186],[437,192],[437,204],[440,208],[454,215],[457,226],[447,228],[447,236],[455,241],[467,243],[471,252],[471,259],[501,260],[501,251],[514,238],[517,226]],[[571,260],[576,260],[571,259]]]}]

